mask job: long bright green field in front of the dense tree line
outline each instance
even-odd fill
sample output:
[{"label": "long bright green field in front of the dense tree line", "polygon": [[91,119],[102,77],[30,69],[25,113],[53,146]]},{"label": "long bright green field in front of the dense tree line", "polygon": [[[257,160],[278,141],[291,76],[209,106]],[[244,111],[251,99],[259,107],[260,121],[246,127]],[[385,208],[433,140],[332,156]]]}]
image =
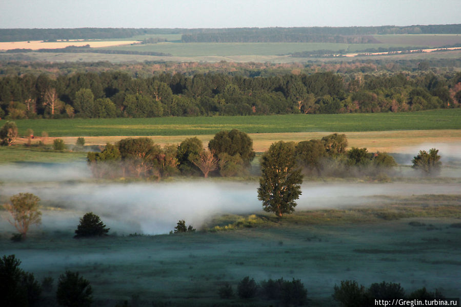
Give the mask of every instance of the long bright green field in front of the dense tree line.
[{"label": "long bright green field in front of the dense tree line", "polygon": [[15,120],[19,135],[32,129],[49,136],[203,135],[239,129],[246,133],[353,132],[461,129],[461,109],[369,114],[294,114],[107,119]]}]

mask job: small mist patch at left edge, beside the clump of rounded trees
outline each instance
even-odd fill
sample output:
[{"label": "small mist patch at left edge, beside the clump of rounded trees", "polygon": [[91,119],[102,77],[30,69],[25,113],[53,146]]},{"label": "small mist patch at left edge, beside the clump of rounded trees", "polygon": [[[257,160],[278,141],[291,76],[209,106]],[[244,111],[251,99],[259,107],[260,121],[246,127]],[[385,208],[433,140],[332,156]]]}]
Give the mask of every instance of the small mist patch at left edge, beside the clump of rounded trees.
[{"label": "small mist patch at left edge, beside the clump of rounded trees", "polygon": [[91,172],[86,162],[17,162],[0,165],[0,181],[3,182],[67,181],[88,178],[91,178]]}]

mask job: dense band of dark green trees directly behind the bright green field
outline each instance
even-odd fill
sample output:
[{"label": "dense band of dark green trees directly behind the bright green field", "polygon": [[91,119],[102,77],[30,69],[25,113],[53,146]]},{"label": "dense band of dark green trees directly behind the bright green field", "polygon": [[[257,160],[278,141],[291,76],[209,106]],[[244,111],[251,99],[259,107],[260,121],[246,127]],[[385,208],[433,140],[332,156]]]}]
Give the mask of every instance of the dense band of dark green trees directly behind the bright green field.
[{"label": "dense band of dark green trees directly behind the bright green field", "polygon": [[399,112],[458,107],[460,101],[461,73],[132,78],[109,71],[0,79],[0,118],[12,119]]}]

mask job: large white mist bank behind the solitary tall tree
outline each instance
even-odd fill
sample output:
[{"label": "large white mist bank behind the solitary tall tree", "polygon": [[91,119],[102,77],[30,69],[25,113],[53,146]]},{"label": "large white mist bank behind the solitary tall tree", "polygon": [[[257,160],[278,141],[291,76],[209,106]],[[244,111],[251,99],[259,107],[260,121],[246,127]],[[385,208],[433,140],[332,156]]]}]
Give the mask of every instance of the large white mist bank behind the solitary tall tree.
[{"label": "large white mist bank behind the solitary tall tree", "polygon": [[[0,195],[29,192],[44,206],[66,210],[44,210],[44,230],[69,231],[73,235],[86,212],[101,216],[118,234],[165,234],[178,220],[200,229],[218,214],[250,214],[262,211],[257,182],[176,183],[31,183],[0,186]],[[372,205],[375,195],[411,196],[459,194],[459,185],[431,183],[305,183],[296,210],[334,209],[360,204]],[[4,221],[0,221],[2,223]]]}]

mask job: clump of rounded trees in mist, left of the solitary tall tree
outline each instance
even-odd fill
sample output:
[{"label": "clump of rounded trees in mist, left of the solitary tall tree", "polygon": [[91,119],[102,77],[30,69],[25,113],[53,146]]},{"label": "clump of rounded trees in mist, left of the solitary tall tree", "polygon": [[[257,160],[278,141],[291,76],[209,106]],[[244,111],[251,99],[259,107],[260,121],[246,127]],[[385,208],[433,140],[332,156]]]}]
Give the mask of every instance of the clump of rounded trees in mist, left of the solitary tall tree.
[{"label": "clump of rounded trees in mist, left of the solitary tall tree", "polygon": [[254,158],[253,141],[236,129],[218,132],[208,148],[197,137],[161,148],[148,137],[126,138],[89,152],[87,160],[98,178],[137,177],[161,179],[181,174],[238,176],[248,174]]}]

